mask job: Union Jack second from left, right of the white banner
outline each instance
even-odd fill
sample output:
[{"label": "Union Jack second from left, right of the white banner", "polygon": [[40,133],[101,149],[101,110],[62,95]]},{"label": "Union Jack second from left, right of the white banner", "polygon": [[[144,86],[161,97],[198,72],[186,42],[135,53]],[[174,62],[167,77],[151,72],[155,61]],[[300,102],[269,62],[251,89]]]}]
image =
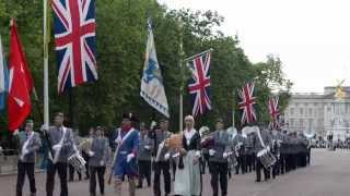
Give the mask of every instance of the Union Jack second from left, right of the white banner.
[{"label": "Union Jack second from left, right of the white banner", "polygon": [[191,72],[188,90],[191,95],[194,105],[192,114],[203,114],[207,110],[211,110],[210,102],[210,51],[200,53],[189,59],[187,66]]}]

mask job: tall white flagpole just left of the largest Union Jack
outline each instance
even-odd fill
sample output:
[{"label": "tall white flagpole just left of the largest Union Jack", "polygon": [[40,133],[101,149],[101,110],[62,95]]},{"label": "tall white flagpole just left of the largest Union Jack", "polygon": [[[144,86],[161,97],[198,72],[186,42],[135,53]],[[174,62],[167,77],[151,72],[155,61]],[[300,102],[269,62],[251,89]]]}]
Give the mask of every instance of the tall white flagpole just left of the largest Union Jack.
[{"label": "tall white flagpole just left of the largest Union Jack", "polygon": [[44,0],[44,125],[49,125],[48,108],[48,21],[47,21],[47,0]]}]

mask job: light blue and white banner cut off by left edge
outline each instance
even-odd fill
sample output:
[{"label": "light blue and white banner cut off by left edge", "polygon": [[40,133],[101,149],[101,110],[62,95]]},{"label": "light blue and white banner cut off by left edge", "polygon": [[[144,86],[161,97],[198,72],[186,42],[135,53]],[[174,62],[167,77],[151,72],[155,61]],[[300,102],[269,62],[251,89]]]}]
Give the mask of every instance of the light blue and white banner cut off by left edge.
[{"label": "light blue and white banner cut off by left edge", "polygon": [[2,111],[5,107],[8,90],[9,90],[9,70],[4,61],[1,36],[0,36],[0,111]]}]

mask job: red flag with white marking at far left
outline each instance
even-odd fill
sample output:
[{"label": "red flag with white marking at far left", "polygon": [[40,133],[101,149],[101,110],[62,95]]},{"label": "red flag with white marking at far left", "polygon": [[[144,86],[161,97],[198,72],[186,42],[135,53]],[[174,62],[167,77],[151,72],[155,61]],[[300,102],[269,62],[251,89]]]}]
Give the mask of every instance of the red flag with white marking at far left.
[{"label": "red flag with white marking at far left", "polygon": [[15,131],[31,113],[32,75],[27,69],[14,20],[11,21],[11,42],[9,53],[9,130]]}]

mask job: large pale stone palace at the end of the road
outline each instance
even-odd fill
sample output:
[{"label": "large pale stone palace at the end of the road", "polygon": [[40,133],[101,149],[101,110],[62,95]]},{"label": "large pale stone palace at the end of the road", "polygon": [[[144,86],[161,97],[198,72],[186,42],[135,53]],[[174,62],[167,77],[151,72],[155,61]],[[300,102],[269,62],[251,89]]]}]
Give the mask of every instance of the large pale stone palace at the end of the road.
[{"label": "large pale stone palace at the end of the road", "polygon": [[[339,97],[338,94],[341,97]],[[296,132],[314,132],[345,139],[350,131],[350,86],[325,87],[323,94],[292,94],[284,111],[285,126]]]}]

